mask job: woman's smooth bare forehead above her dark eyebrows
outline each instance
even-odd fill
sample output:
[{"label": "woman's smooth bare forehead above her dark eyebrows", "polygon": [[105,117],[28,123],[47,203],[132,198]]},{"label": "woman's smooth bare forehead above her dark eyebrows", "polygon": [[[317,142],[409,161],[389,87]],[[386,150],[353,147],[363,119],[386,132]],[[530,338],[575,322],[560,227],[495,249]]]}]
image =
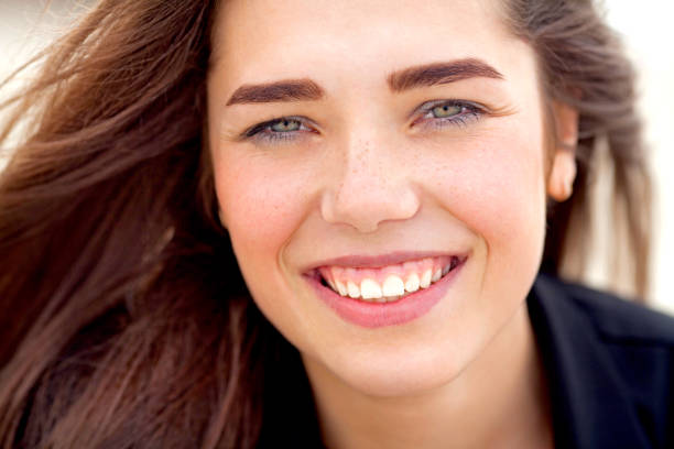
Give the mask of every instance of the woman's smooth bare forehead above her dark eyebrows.
[{"label": "woman's smooth bare forehead above her dark eyebrows", "polygon": [[515,40],[499,6],[497,0],[227,1],[216,21],[215,66],[226,67],[232,83],[251,83],[325,68],[352,78],[381,75],[383,66],[476,56],[498,63]]}]

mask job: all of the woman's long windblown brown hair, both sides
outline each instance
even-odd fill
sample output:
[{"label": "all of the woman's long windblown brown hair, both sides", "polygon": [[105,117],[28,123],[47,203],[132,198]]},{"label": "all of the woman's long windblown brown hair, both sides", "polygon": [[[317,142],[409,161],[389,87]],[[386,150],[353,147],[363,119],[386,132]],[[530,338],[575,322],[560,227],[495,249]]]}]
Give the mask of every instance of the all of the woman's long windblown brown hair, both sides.
[{"label": "all of the woman's long windblown brown hair, both sides", "polygon": [[[568,250],[587,247],[604,160],[643,292],[649,177],[632,68],[589,0],[507,7],[546,98],[579,111],[578,177],[570,200],[551,206],[543,270],[559,274]],[[0,106],[11,154],[0,175],[2,448],[252,447],[279,418],[281,391],[304,385],[215,219],[205,128],[216,14],[216,0],[101,0]]]}]

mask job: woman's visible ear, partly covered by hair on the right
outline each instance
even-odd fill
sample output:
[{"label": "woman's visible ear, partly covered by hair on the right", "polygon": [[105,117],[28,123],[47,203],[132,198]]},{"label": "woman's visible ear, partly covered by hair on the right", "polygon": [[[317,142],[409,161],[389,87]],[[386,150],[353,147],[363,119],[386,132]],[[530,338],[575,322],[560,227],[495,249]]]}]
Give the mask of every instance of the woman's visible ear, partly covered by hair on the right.
[{"label": "woman's visible ear, partly covered by hair on the right", "polygon": [[572,196],[576,179],[576,144],[578,142],[578,111],[569,105],[553,105],[555,135],[552,166],[547,178],[547,195],[556,201]]}]

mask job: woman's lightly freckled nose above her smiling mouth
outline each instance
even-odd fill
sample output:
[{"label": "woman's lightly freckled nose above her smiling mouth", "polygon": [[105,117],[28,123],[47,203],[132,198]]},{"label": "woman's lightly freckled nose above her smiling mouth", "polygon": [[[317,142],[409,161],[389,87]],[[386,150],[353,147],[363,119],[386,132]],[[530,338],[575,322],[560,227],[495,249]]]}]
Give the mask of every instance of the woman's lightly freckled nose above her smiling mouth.
[{"label": "woman's lightly freckled nose above her smiling mouth", "polygon": [[421,201],[400,149],[374,138],[350,138],[320,201],[323,219],[360,232],[416,215]]}]

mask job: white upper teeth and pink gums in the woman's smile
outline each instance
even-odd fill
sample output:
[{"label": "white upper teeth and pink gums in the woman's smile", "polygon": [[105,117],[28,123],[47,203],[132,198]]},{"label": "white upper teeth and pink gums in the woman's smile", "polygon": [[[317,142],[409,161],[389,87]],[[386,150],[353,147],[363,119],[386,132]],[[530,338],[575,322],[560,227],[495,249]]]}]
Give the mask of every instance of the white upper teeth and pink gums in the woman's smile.
[{"label": "white upper teeth and pink gums in the woman's smile", "polygon": [[[389,272],[382,283],[378,282],[374,276],[367,276],[367,273],[372,272],[372,270],[361,270],[361,273],[366,276],[360,280],[358,280],[355,269],[333,267],[325,269],[322,273],[324,273],[324,278],[330,287],[341,296],[384,303],[400,299],[402,296],[420,288],[428,288],[432,283],[439,281],[457,264],[456,258],[442,258],[439,262],[443,263],[442,266],[437,264],[438,259],[417,261],[416,265],[405,264],[407,267],[406,275],[390,273],[390,271],[396,271],[391,267],[378,269],[384,270],[384,273]],[[432,266],[428,267],[430,264]],[[426,267],[420,274],[412,270],[414,266]]]}]

